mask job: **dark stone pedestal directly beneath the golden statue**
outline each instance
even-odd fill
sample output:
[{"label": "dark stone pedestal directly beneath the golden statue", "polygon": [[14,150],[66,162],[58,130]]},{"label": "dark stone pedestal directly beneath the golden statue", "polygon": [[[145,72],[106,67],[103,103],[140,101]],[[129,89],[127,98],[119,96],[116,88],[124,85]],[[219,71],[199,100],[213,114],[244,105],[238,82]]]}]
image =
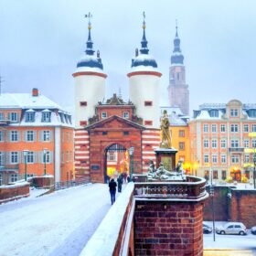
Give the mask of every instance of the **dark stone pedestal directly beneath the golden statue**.
[{"label": "dark stone pedestal directly beneath the golden statue", "polygon": [[156,168],[162,162],[165,170],[173,171],[176,168],[176,148],[157,148],[155,149]]}]

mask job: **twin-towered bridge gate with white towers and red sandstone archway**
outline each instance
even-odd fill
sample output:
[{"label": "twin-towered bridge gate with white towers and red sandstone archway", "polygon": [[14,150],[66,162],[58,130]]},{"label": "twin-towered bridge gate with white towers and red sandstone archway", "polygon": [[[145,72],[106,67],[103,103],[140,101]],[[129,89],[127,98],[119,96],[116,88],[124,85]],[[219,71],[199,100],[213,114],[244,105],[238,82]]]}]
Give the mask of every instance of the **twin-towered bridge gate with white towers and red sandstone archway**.
[{"label": "twin-towered bridge gate with white towers and red sandstone archway", "polygon": [[[91,21],[85,55],[73,73],[75,80],[75,170],[76,177],[91,176],[104,182],[108,173],[108,154],[133,148],[133,169],[147,171],[159,146],[159,91],[161,72],[149,54],[143,23],[140,50],[135,50],[129,80],[129,102],[115,94],[105,98],[105,80],[100,52],[95,56],[91,40]],[[112,157],[112,156],[111,156]],[[125,157],[121,157],[125,160]],[[113,158],[112,158],[113,159]],[[132,163],[131,163],[132,164]],[[110,169],[110,168],[109,168]],[[125,171],[129,171],[126,169]],[[120,170],[116,170],[120,172]]]}]

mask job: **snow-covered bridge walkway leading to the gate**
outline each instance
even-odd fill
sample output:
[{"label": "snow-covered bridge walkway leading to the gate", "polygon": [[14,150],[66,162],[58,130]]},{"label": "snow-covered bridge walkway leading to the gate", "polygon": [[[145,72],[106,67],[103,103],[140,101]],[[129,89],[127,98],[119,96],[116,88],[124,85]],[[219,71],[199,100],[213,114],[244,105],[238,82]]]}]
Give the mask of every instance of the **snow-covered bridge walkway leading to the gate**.
[{"label": "snow-covered bridge walkway leading to the gate", "polygon": [[104,184],[0,205],[0,256],[79,255],[109,208]]}]

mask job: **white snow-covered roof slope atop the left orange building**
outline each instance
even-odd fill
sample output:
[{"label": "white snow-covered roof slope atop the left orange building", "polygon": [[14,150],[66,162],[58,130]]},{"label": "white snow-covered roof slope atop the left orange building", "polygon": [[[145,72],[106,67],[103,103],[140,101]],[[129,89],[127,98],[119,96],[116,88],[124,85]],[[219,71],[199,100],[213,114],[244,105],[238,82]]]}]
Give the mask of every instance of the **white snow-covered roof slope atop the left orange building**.
[{"label": "white snow-covered roof slope atop the left orange building", "polygon": [[32,96],[30,93],[2,93],[0,95],[0,108],[60,109],[60,106],[44,95]]}]

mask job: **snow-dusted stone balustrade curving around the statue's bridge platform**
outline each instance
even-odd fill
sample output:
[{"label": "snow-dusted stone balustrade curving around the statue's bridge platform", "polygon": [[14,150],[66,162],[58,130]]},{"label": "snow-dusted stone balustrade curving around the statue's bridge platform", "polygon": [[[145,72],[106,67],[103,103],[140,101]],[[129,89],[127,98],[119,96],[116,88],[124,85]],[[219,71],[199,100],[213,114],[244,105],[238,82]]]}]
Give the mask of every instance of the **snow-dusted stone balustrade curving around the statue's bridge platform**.
[{"label": "snow-dusted stone balustrade curving around the statue's bridge platform", "polygon": [[184,182],[162,181],[135,183],[134,197],[199,201],[208,197],[208,193],[204,178],[187,176],[187,180]]}]

